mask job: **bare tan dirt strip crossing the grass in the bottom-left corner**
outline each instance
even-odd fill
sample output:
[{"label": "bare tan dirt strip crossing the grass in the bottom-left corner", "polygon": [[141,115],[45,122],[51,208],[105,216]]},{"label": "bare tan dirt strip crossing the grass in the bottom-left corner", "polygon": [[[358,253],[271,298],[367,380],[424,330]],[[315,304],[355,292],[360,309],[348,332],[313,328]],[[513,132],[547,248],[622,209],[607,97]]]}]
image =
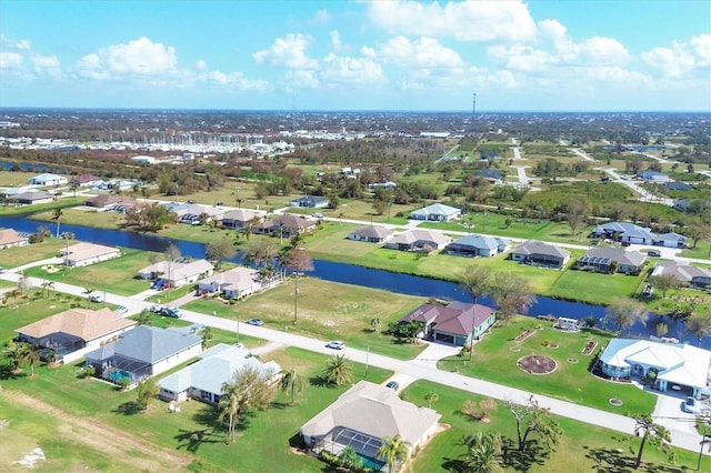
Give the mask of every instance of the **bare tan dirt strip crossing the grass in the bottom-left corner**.
[{"label": "bare tan dirt strip crossing the grass in the bottom-left corner", "polygon": [[[34,412],[42,412],[60,420],[58,434],[69,443],[87,445],[117,455],[132,471],[174,472],[187,467],[192,457],[177,450],[151,444],[144,439],[104,424],[92,417],[77,417],[27,394],[4,390],[2,395]],[[136,453],[139,453],[138,455]]]}]

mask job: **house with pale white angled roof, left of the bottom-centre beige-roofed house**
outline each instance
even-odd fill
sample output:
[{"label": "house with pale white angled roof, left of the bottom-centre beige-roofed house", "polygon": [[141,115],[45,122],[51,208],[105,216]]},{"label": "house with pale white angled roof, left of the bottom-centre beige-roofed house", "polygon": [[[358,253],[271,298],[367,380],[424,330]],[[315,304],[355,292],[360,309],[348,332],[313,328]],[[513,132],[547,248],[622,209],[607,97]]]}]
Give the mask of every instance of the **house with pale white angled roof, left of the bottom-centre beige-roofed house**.
[{"label": "house with pale white angled roof, left of the bottom-centre beige-roofed house", "polygon": [[182,402],[196,399],[218,404],[222,384],[231,381],[234,372],[256,369],[269,383],[279,381],[281,366],[276,361],[262,363],[243,348],[219,343],[199,353],[196,363],[177,371],[158,382],[159,396],[166,401]]}]

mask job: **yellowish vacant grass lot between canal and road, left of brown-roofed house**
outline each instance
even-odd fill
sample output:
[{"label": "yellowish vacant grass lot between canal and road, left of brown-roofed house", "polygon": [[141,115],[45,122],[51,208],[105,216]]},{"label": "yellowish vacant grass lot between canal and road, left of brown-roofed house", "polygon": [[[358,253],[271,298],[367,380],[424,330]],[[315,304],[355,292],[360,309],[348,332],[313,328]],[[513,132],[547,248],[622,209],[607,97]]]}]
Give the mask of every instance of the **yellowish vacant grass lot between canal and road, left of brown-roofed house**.
[{"label": "yellowish vacant grass lot between canal and road, left of brown-roofed house", "polygon": [[258,318],[270,329],[288,330],[320,340],[343,340],[353,348],[409,360],[424,346],[395,343],[392,336],[375,333],[371,320],[380,319],[381,331],[412,309],[425,302],[422,298],[394,294],[358,285],[339,284],[313,278],[299,280],[298,323],[293,324],[293,280],[261,294],[249,296],[236,305],[219,301],[190,302],[184,309],[244,322]]}]

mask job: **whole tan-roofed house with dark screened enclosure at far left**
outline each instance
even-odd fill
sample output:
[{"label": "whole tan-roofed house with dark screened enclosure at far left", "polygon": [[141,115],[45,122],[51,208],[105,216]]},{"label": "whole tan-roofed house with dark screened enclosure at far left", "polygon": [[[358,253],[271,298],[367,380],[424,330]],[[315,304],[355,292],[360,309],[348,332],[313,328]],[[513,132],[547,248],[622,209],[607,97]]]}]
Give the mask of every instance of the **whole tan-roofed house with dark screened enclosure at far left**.
[{"label": "whole tan-roofed house with dark screened enclosure at far left", "polygon": [[69,363],[88,351],[117,339],[136,326],[111,309],[69,309],[17,329],[20,340],[38,348],[53,350],[58,361]]}]

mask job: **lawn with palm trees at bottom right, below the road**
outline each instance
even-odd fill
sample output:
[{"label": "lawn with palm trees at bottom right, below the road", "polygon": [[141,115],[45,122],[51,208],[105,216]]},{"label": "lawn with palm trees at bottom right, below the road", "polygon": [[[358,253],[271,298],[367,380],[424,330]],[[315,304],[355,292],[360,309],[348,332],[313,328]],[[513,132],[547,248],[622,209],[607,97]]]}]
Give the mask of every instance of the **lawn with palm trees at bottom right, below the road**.
[{"label": "lawn with palm trees at bottom right, below the road", "polygon": [[[442,414],[440,423],[449,429],[437,435],[432,442],[421,451],[405,471],[412,472],[451,472],[458,471],[460,461],[465,453],[461,444],[464,435],[477,432],[499,431],[503,436],[505,471],[524,472],[632,472],[633,459],[639,449],[639,439],[624,435],[620,432],[598,427],[565,417],[557,417],[563,430],[563,436],[555,452],[550,457],[540,457],[535,454],[519,453],[512,449],[515,442],[515,424],[512,415],[502,403],[491,415],[491,422],[482,423],[472,421],[462,413],[465,401],[471,401],[474,406],[483,397],[460,391],[450,386],[435,384],[429,381],[417,381],[403,391],[402,397],[418,405],[427,406],[424,396],[434,392],[439,400],[432,404],[432,409]],[[537,435],[531,434],[532,449],[535,449]],[[633,451],[634,453],[632,453]],[[642,466],[639,471],[647,472],[682,472],[695,470],[697,454],[684,450],[674,449],[677,460],[671,465],[667,456],[653,446],[645,446],[642,456]],[[705,456],[701,463],[701,471],[711,471],[711,459]]]}]

